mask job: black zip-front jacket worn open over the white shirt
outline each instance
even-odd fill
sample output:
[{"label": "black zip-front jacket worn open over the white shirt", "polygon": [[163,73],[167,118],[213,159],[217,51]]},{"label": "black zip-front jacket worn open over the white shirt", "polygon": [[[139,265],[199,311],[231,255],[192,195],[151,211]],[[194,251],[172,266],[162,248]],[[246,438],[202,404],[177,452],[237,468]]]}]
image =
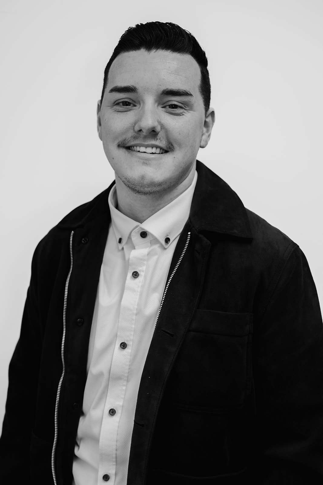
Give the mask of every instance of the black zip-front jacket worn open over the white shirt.
[{"label": "black zip-front jacket worn open over the white shirt", "polygon": [[[141,377],[127,484],[321,484],[323,326],[307,260],[197,170]],[[9,367],[1,485],[72,482],[110,188],[35,250]]]}]

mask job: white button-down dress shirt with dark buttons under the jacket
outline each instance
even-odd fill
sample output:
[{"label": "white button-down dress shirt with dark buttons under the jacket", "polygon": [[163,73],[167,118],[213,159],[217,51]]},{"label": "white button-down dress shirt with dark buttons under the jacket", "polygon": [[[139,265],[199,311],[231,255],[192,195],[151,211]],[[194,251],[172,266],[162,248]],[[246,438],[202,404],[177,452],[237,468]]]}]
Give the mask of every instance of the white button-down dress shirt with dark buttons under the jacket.
[{"label": "white button-down dress shirt with dark buttons under the jacket", "polygon": [[183,194],[142,224],[116,209],[115,186],[109,194],[111,225],[93,313],[74,485],[126,484],[140,378],[196,181],[197,172]]}]

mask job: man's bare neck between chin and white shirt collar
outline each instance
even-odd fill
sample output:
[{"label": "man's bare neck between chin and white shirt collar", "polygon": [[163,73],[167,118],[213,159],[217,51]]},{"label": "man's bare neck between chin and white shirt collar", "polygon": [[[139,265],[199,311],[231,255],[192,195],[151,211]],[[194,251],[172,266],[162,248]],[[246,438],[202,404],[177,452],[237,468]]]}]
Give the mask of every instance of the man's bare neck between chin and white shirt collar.
[{"label": "man's bare neck between chin and white shirt collar", "polygon": [[195,168],[196,163],[194,163],[187,177],[176,187],[155,194],[136,194],[126,187],[120,178],[116,177],[118,210],[141,224],[185,192],[193,181]]}]

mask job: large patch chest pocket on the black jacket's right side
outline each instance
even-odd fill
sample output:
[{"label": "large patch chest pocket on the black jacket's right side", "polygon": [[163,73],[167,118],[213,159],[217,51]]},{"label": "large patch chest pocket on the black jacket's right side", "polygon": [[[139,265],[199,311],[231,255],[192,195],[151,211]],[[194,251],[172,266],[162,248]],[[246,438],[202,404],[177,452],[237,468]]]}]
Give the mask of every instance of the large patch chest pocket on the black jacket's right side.
[{"label": "large patch chest pocket on the black jacket's right side", "polygon": [[176,407],[227,412],[250,392],[252,314],[199,309],[174,362],[167,397]]}]

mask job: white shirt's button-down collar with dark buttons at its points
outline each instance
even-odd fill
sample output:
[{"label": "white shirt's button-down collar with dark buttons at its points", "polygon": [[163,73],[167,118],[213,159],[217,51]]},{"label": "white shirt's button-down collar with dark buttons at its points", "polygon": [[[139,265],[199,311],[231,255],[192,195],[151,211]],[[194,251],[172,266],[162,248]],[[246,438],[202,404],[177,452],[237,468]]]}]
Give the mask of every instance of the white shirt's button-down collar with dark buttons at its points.
[{"label": "white shirt's button-down collar with dark buttons at its points", "polygon": [[[116,209],[117,192],[114,185],[108,196],[108,204],[111,213],[111,223],[119,249],[123,248],[129,236],[131,236],[135,247],[140,245],[140,243],[157,239],[164,248],[168,248],[182,232],[189,217],[197,178],[198,175],[195,171],[191,185],[183,194],[176,197],[167,206],[155,212],[141,224]],[[142,238],[140,236],[142,232],[146,232],[147,236]]]}]

